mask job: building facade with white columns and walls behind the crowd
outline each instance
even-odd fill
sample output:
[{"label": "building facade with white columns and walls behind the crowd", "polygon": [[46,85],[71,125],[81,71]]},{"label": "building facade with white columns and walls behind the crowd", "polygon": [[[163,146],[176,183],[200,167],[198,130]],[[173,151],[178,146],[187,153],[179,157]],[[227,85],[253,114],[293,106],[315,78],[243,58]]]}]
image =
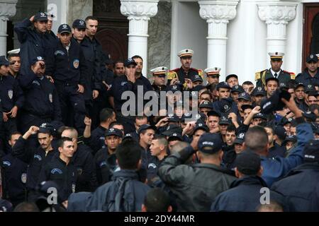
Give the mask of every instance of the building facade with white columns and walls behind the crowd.
[{"label": "building facade with white columns and walls behind the crowd", "polygon": [[295,73],[307,54],[319,53],[318,0],[0,0],[0,55],[19,46],[13,25],[40,10],[55,14],[55,31],[98,17],[103,49],[114,60],[142,56],[144,75],[156,66],[179,67],[184,48],[194,50],[195,68],[218,66],[240,83],[270,67],[268,52],[284,52],[282,69]]}]

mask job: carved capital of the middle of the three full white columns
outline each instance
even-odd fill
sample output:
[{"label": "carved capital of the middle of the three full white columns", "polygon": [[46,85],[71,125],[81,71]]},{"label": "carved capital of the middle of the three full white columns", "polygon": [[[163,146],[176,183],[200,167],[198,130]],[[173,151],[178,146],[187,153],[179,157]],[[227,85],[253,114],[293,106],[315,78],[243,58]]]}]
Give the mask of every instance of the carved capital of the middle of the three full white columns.
[{"label": "carved capital of the middle of the three full white columns", "polygon": [[[228,23],[236,16],[238,0],[233,1],[198,1],[199,15],[204,20]],[[210,21],[207,21],[208,23]]]}]

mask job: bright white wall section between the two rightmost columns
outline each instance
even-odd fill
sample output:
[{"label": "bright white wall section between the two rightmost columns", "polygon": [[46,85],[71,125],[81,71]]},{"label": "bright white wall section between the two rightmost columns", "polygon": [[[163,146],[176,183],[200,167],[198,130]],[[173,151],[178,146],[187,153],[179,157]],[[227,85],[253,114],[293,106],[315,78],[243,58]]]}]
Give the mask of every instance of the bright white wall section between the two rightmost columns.
[{"label": "bright white wall section between the two rightmost columns", "polygon": [[242,0],[236,9],[237,16],[228,23],[226,74],[237,74],[240,84],[254,83],[254,73],[269,68],[267,25],[259,20],[255,1]]}]

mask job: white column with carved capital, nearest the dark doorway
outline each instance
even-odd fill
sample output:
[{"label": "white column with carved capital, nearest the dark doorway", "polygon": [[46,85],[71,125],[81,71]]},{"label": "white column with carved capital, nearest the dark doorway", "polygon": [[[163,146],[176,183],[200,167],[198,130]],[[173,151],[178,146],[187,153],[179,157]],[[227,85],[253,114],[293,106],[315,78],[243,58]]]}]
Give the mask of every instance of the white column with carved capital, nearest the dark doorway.
[{"label": "white column with carved capital, nearest the dark doorway", "polygon": [[147,76],[148,20],[157,14],[159,0],[121,0],[121,13],[128,17],[128,57],[140,55],[143,59],[142,74]]}]

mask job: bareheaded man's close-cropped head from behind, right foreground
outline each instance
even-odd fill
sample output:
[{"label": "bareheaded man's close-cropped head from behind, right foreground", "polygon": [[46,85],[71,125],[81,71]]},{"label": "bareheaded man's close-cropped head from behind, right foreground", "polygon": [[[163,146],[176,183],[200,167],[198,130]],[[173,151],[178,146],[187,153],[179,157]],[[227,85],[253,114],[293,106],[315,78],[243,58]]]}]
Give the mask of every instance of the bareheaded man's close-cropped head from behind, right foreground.
[{"label": "bareheaded man's close-cropped head from behind, right foreground", "polygon": [[248,129],[243,145],[254,153],[267,155],[269,148],[267,132],[262,126],[254,126]]}]

